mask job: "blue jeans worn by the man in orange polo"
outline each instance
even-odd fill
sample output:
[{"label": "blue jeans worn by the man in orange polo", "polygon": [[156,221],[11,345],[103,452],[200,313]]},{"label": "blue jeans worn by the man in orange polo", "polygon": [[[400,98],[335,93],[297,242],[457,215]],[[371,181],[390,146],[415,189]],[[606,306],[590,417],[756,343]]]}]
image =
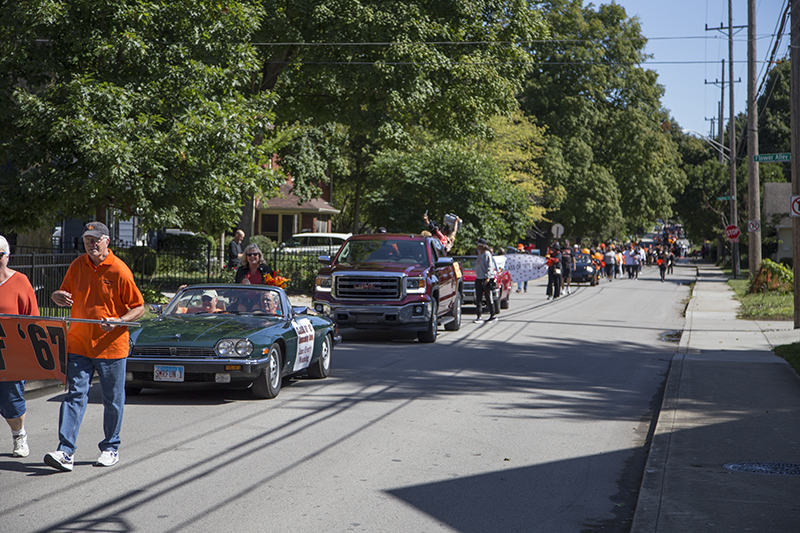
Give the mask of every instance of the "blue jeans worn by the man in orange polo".
[{"label": "blue jeans worn by the man in orange polo", "polygon": [[100,451],[119,449],[122,409],[125,406],[127,359],[92,359],[71,353],[67,357],[67,395],[58,414],[58,449],[75,453],[78,431],[89,401],[92,376],[97,372],[103,396],[103,433]]}]

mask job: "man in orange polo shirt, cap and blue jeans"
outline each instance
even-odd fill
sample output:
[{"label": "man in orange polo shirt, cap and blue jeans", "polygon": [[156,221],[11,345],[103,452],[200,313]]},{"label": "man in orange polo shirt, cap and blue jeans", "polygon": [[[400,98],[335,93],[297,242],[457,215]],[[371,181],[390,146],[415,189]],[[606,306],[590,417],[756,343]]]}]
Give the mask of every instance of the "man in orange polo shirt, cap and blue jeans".
[{"label": "man in orange polo shirt, cap and blue jeans", "polygon": [[68,391],[58,416],[58,450],[44,457],[47,465],[63,472],[72,471],[78,431],[95,372],[102,390],[105,434],[98,445],[101,453],[95,466],[114,466],[119,461],[128,328],[115,326],[114,322],[140,318],[144,314],[144,298],[128,266],[108,249],[109,240],[105,224],[86,224],[86,254],[72,262],[61,288],[51,296],[57,305],[72,308],[72,318],[106,322],[72,322],[67,331]]}]

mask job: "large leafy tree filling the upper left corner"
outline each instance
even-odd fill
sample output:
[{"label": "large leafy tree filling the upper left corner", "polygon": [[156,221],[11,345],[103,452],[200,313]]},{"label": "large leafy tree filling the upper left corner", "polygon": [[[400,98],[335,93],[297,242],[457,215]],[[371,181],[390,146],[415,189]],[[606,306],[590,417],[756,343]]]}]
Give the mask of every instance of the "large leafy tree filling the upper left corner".
[{"label": "large leafy tree filling the upper left corner", "polygon": [[0,224],[137,215],[219,232],[282,178],[250,94],[258,2],[3,2]]}]

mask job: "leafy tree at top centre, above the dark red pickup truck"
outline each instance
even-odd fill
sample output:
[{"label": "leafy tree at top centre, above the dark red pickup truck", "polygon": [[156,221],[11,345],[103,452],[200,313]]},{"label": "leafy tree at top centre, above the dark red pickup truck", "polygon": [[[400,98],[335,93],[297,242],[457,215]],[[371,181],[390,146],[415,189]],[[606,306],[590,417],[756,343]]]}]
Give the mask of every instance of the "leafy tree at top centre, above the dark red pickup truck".
[{"label": "leafy tree at top centre, above the dark red pickup truck", "polygon": [[[368,169],[423,129],[440,138],[486,135],[486,121],[517,107],[530,68],[523,41],[544,37],[527,0],[272,0],[265,2],[254,90],[280,95],[278,122],[346,128],[349,173],[338,177],[354,231]],[[310,168],[310,167],[309,167]],[[295,167],[295,183],[319,173]]]}]

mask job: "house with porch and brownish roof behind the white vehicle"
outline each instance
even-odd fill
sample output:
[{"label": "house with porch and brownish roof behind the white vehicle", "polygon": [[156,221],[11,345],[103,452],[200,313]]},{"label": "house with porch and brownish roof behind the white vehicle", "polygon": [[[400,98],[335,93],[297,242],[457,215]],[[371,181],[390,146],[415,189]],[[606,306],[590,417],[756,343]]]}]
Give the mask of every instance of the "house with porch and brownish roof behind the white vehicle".
[{"label": "house with porch and brownish roof behind the white vehicle", "polygon": [[293,183],[288,180],[280,187],[277,198],[257,197],[253,204],[253,226],[249,235],[264,235],[276,243],[288,241],[295,233],[310,231],[326,233],[333,230],[331,217],[339,210],[330,203],[330,187],[322,186],[322,196],[301,201],[291,191]]}]

